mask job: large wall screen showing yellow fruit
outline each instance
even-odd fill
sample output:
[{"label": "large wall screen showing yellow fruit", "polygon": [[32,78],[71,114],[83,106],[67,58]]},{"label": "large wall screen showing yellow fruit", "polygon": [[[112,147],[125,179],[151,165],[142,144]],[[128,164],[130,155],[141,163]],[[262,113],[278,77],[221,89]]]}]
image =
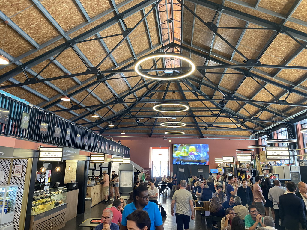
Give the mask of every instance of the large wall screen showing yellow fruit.
[{"label": "large wall screen showing yellow fruit", "polygon": [[173,144],[173,164],[209,165],[209,145]]}]

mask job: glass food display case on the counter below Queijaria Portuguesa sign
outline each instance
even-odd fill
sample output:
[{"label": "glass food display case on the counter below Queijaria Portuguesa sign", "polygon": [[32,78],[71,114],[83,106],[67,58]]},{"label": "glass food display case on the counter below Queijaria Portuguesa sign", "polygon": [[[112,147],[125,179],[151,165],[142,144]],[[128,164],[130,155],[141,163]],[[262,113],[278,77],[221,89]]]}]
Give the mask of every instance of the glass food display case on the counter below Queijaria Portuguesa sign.
[{"label": "glass food display case on the counter below Queijaria Portuguesa sign", "polygon": [[37,215],[66,204],[66,196],[66,187],[35,191],[33,194],[31,215]]}]

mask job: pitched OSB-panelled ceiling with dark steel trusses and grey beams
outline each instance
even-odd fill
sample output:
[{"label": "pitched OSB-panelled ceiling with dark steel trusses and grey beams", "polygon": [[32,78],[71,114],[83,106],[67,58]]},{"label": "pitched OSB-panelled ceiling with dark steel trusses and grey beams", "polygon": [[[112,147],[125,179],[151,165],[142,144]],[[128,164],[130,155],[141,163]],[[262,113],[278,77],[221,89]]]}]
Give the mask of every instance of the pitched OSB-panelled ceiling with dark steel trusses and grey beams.
[{"label": "pitched OSB-panelled ceiling with dark steel trusses and grey beams", "polygon": [[[250,137],[307,111],[307,0],[21,0],[0,10],[10,61],[0,89],[103,135]],[[154,52],[181,53],[196,70],[140,77],[134,63]],[[157,76],[190,68],[142,63]],[[161,102],[189,108],[153,110]]]}]

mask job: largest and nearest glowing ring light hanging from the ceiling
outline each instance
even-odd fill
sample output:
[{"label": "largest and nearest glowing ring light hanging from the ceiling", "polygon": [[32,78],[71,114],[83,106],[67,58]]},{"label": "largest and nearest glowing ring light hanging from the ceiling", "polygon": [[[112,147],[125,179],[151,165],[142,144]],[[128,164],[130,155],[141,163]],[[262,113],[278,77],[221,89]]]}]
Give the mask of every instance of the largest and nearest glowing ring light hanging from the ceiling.
[{"label": "largest and nearest glowing ring light hanging from the ceiling", "polygon": [[[141,63],[143,63],[146,60],[154,59],[154,58],[178,58],[178,59],[181,59],[181,60],[188,62],[190,64],[191,69],[189,71],[185,72],[185,73],[178,74],[178,75],[175,75],[175,76],[174,75],[173,76],[156,76],[156,75],[150,75],[150,74],[147,74],[147,73],[141,71],[141,69],[140,69]],[[172,80],[172,79],[184,78],[184,77],[192,74],[195,70],[195,63],[193,62],[193,60],[191,58],[188,58],[188,57],[186,57],[182,54],[179,54],[179,53],[158,52],[158,53],[145,55],[145,56],[141,57],[140,59],[138,59],[138,61],[134,64],[134,70],[135,70],[135,72],[138,73],[138,75],[145,77],[145,78],[157,79],[157,80]]]}]

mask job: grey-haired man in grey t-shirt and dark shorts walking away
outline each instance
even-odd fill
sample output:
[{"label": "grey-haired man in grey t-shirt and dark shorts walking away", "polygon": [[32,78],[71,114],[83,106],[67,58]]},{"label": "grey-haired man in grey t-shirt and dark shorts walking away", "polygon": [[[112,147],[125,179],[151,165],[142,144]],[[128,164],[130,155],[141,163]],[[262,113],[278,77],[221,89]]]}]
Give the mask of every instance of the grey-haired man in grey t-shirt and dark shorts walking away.
[{"label": "grey-haired man in grey t-shirt and dark shorts walking away", "polygon": [[176,203],[176,224],[178,230],[188,229],[190,225],[190,210],[192,211],[191,219],[194,220],[194,206],[192,194],[186,190],[186,180],[180,181],[180,189],[176,190],[172,198],[172,216],[174,216],[174,205]]}]

